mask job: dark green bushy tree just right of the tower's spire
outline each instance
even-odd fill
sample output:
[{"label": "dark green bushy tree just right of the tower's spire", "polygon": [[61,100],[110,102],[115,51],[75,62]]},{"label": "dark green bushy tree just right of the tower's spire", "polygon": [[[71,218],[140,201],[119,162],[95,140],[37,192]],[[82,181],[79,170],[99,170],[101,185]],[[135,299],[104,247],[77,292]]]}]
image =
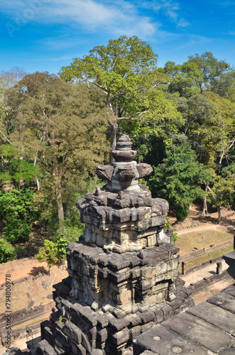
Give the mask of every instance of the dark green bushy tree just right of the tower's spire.
[{"label": "dark green bushy tree just right of the tower's spire", "polygon": [[184,143],[166,151],[163,163],[153,168],[148,186],[153,197],[168,200],[177,220],[182,221],[187,217],[189,207],[195,199],[204,197],[201,185],[209,178],[207,170],[197,162],[190,143]]}]

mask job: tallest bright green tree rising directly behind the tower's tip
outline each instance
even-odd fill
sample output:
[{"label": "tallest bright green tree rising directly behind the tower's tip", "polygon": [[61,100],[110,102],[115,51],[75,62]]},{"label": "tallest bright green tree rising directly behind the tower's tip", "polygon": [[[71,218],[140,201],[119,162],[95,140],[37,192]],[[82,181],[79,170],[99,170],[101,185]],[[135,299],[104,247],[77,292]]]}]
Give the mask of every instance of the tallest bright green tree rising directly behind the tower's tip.
[{"label": "tallest bright green tree rising directly behind the tower's tip", "polygon": [[[157,122],[163,118],[163,110],[159,110],[161,102],[158,102],[162,97],[155,96],[156,90],[153,88],[161,82],[167,82],[168,78],[163,70],[157,68],[157,59],[158,55],[145,41],[136,36],[122,36],[117,40],[109,40],[107,46],[94,47],[89,55],[75,58],[71,65],[62,67],[62,80],[86,82],[106,95],[111,150],[116,148],[116,132],[120,121],[144,118]],[[176,113],[175,109],[175,116]]]}]

